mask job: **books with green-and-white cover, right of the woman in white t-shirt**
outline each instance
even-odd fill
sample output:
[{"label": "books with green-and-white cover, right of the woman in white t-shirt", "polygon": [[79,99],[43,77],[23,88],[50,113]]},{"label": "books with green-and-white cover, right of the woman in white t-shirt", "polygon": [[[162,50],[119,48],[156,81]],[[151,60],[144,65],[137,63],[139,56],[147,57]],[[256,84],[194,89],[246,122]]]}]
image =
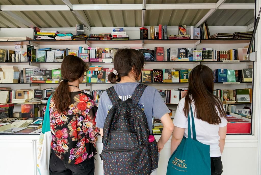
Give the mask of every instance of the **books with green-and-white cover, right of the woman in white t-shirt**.
[{"label": "books with green-and-white cover, right of the woman in white t-shirt", "polygon": [[214,95],[219,97],[223,103],[252,103],[252,89],[216,89]]}]

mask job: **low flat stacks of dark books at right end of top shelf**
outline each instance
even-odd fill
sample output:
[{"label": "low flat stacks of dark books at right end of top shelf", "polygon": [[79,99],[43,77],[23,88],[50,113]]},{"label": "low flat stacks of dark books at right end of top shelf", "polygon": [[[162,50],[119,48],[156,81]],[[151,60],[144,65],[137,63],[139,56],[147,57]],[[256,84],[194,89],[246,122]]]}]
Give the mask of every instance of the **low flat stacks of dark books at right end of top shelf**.
[{"label": "low flat stacks of dark books at right end of top shelf", "polygon": [[253,31],[234,32],[234,33],[216,33],[211,35],[211,39],[251,39]]}]

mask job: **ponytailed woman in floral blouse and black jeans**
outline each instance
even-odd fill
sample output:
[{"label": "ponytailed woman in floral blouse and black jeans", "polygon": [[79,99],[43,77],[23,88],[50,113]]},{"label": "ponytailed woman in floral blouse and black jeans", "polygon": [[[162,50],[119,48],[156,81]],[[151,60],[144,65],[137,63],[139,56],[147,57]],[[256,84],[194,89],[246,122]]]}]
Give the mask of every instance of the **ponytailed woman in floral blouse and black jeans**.
[{"label": "ponytailed woman in floral blouse and black jeans", "polygon": [[79,57],[68,55],[61,65],[63,81],[50,101],[52,133],[50,174],[94,174],[97,112],[93,97],[79,84],[88,66]]}]

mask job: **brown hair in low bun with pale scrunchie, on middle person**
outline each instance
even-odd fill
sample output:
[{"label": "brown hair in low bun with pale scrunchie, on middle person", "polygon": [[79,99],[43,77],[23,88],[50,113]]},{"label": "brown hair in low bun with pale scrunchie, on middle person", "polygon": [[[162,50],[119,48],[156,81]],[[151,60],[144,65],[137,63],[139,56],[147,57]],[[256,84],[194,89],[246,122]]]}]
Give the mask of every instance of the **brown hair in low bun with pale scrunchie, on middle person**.
[{"label": "brown hair in low bun with pale scrunchie, on middle person", "polygon": [[144,66],[143,54],[135,49],[119,49],[114,56],[114,69],[118,72],[116,76],[114,73],[110,73],[108,80],[111,83],[121,81],[121,77],[128,76],[129,72],[134,69],[135,79],[137,79]]}]

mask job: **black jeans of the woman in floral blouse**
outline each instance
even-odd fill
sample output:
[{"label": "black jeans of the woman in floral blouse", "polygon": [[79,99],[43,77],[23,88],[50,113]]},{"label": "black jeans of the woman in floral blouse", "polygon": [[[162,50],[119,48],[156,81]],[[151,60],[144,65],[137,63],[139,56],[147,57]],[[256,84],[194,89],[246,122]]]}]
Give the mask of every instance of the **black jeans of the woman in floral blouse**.
[{"label": "black jeans of the woman in floral blouse", "polygon": [[52,153],[49,170],[51,175],[94,175],[94,157],[74,165],[62,161]]}]

